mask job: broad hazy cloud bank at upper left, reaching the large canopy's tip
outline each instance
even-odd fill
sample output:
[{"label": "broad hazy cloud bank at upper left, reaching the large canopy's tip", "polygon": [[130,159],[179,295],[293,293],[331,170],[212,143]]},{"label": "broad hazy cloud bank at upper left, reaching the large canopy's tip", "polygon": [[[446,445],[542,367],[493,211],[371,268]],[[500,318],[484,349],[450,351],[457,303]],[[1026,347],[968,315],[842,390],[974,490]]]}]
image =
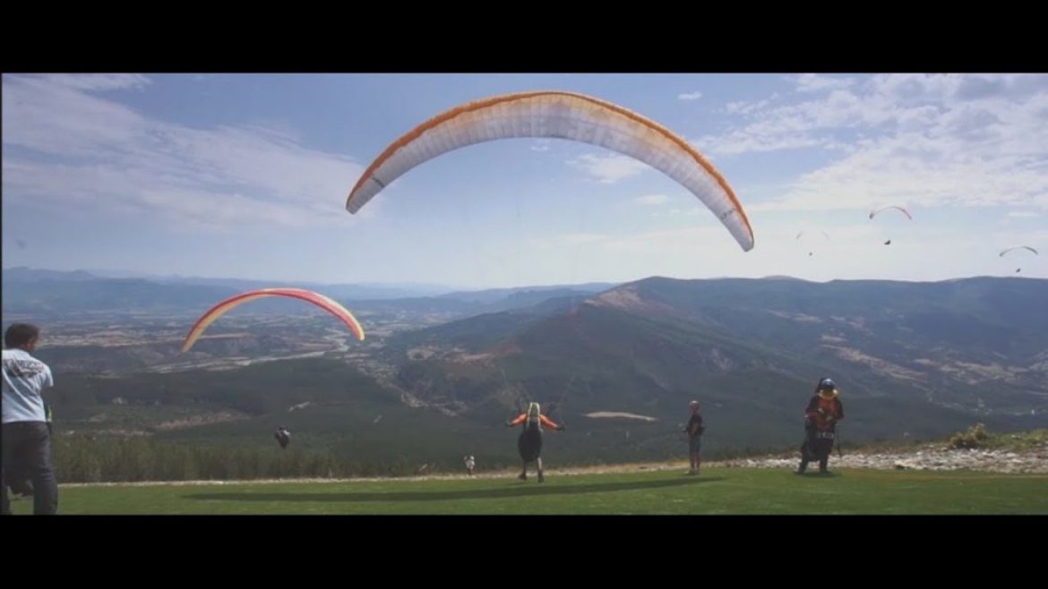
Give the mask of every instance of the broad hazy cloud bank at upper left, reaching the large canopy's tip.
[{"label": "broad hazy cloud bank at upper left, reaching the large canopy's tip", "polygon": [[149,211],[192,226],[349,217],[342,204],[363,167],[344,156],[289,132],[197,129],[85,92],[148,84],[140,78],[5,77],[4,200]]}]

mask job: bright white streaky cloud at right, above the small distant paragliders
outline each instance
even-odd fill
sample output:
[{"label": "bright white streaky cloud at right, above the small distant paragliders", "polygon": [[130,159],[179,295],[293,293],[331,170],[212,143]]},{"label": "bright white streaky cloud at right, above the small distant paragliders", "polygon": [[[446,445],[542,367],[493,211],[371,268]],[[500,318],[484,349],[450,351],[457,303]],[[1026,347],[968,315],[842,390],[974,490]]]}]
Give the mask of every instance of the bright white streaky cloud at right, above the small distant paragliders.
[{"label": "bright white streaky cloud at right, above the small distant paragliders", "polygon": [[[803,83],[810,83],[808,82]],[[877,75],[791,104],[729,105],[749,119],[711,153],[820,148],[836,160],[747,211],[1026,205],[1048,209],[1048,77]]]}]

